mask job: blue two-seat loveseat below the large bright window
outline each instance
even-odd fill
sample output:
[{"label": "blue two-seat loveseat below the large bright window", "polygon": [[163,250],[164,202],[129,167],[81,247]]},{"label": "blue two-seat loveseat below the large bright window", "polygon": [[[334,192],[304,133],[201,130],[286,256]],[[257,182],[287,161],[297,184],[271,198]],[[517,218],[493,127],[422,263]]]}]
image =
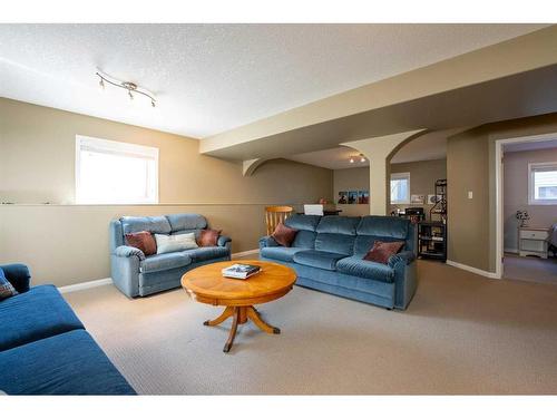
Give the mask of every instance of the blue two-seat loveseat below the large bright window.
[{"label": "blue two-seat loveseat below the large bright window", "polygon": [[125,234],[148,231],[153,234],[186,234],[207,227],[204,216],[173,214],[164,216],[124,216],[110,222],[110,265],[114,284],[128,298],[178,288],[185,272],[203,264],[231,260],[231,239],[218,237],[216,246],[166,254],[145,254],[126,245]]}]

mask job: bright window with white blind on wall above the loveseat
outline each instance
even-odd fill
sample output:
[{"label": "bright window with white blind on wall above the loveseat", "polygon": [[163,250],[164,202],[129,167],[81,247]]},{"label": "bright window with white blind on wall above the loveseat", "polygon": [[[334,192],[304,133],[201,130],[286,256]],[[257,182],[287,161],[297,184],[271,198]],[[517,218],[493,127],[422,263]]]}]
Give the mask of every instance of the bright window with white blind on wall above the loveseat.
[{"label": "bright window with white blind on wall above the loveseat", "polygon": [[158,148],[76,136],[76,203],[158,203]]}]

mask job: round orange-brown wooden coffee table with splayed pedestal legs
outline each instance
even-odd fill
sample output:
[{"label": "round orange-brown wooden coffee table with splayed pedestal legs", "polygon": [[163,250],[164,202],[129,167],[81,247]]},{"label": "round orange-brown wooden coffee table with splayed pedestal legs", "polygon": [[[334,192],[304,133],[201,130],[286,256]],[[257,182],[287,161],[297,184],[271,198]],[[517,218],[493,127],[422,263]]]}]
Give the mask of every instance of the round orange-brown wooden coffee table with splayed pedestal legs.
[{"label": "round orange-brown wooden coffee table with splayed pedestal legs", "polygon": [[[236,263],[260,265],[261,271],[245,280],[223,278],[222,270]],[[290,292],[296,273],[294,270],[276,263],[258,260],[224,261],[203,265],[188,271],[182,276],[182,286],[202,303],[226,307],[218,318],[205,321],[204,325],[218,325],[233,318],[228,340],[224,352],[228,352],[236,337],[237,327],[252,320],[262,331],[281,333],[261,318],[254,304],[274,301]]]}]

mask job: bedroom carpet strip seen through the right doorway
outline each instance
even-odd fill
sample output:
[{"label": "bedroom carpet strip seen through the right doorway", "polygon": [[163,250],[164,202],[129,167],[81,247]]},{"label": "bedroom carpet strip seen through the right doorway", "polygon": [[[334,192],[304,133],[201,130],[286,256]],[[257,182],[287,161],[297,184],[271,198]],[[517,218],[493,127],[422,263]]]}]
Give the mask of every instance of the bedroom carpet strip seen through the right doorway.
[{"label": "bedroom carpet strip seen through the right doorway", "polygon": [[557,259],[505,253],[504,276],[535,283],[557,284]]}]

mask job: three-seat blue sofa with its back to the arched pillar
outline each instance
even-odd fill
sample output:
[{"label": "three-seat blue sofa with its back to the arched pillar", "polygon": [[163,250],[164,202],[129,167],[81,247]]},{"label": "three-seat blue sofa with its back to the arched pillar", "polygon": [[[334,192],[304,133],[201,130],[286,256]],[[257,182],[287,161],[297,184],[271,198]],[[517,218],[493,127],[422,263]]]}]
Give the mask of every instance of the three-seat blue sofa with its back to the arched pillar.
[{"label": "three-seat blue sofa with its back to the arched pillar", "polygon": [[[299,231],[292,246],[264,236],[260,259],[293,268],[296,284],[388,309],[403,310],[410,303],[417,286],[416,231],[410,221],[292,215],[284,224]],[[404,247],[388,264],[363,260],[375,240],[404,241]]]}]

